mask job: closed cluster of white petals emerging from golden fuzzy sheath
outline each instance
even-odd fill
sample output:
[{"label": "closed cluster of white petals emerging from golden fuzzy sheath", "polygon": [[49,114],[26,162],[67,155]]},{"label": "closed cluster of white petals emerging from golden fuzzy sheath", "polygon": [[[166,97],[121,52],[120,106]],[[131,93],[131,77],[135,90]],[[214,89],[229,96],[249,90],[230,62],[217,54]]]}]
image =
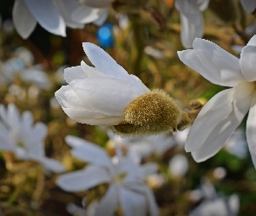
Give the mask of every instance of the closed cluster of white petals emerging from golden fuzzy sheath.
[{"label": "closed cluster of white petals emerging from golden fuzzy sheath", "polygon": [[129,75],[102,48],[82,43],[95,67],[84,61],[65,69],[69,84],[56,92],[62,110],[76,122],[116,125],[124,120],[124,110],[135,98],[150,92],[135,75]]}]

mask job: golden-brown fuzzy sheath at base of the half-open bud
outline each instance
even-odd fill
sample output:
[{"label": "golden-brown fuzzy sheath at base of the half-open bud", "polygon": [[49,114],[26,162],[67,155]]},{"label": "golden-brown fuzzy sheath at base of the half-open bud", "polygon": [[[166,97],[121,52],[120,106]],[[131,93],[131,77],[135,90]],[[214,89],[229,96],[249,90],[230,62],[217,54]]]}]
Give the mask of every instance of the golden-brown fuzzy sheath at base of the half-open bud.
[{"label": "golden-brown fuzzy sheath at base of the half-open bud", "polygon": [[182,113],[174,98],[154,89],[135,98],[124,111],[125,121],[113,129],[123,136],[174,133]]}]

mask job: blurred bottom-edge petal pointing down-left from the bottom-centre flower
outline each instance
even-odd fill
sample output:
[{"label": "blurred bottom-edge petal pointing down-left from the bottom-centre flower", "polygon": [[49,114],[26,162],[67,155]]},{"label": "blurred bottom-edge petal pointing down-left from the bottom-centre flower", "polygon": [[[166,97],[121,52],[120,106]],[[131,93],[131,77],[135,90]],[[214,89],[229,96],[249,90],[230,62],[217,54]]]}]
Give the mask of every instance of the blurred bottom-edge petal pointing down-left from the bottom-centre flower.
[{"label": "blurred bottom-edge petal pointing down-left from the bottom-centre flower", "polygon": [[98,206],[96,207],[95,216],[113,216],[115,215],[116,208],[118,206],[119,194],[118,186],[115,184],[110,184],[108,191],[100,200]]}]

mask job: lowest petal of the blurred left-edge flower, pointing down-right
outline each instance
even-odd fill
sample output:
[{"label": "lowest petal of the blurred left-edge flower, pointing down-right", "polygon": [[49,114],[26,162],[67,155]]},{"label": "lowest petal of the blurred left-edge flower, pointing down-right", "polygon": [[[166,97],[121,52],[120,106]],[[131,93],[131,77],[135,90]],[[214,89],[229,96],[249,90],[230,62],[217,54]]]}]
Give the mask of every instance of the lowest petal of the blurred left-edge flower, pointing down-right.
[{"label": "lowest petal of the blurred left-edge flower, pointing down-right", "polygon": [[54,173],[62,173],[65,171],[61,162],[51,159],[49,157],[30,156],[30,158],[36,162],[40,162],[47,171]]}]

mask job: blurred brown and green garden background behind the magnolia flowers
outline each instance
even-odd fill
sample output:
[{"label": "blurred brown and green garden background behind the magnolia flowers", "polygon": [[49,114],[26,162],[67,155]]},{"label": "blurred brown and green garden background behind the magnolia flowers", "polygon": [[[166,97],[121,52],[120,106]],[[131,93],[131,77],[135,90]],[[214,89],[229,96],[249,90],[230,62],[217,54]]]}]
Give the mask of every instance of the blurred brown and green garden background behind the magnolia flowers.
[{"label": "blurred brown and green garden background behind the magnolia flowers", "polygon": [[[206,103],[224,89],[211,84],[179,60],[177,51],[185,48],[181,44],[180,12],[175,9],[174,0],[117,0],[109,6],[108,19],[102,26],[89,23],[82,29],[67,28],[67,36],[62,37],[50,34],[37,24],[25,40],[13,26],[13,4],[12,0],[0,2],[0,103],[14,103],[21,112],[31,111],[35,122],[47,124],[45,154],[62,162],[69,171],[82,168],[84,163],[70,155],[64,140],[67,135],[96,143],[110,156],[115,151],[108,129],[75,123],[54,97],[56,90],[66,85],[64,68],[80,65],[81,60],[89,64],[82,42],[93,42],[104,48],[128,73],[138,76],[150,89],[163,89],[184,109],[189,109],[190,100]],[[246,28],[253,24],[255,16],[246,14],[240,3],[233,0],[210,1],[203,16],[203,38],[239,57],[240,48],[254,35]],[[161,154],[157,153],[157,146],[161,146],[162,141],[156,139],[156,150],[142,160],[142,163],[156,162],[159,166],[147,183],[154,191],[162,216],[255,215],[256,172],[247,149],[245,122],[225,148],[201,163],[194,162],[184,151],[187,130],[167,137],[170,144]],[[16,170],[10,170],[0,150],[3,215],[71,215],[66,207],[68,203],[82,206],[84,196],[93,200],[95,194],[101,194],[108,187],[67,193],[56,186],[58,175],[46,175],[42,183],[38,166],[24,162],[16,166]],[[213,197],[225,200],[227,208],[233,209],[232,195],[237,199],[234,205],[237,210],[233,214],[232,211],[228,214],[210,214],[210,210],[201,214],[194,212],[206,200],[209,204]]]}]

